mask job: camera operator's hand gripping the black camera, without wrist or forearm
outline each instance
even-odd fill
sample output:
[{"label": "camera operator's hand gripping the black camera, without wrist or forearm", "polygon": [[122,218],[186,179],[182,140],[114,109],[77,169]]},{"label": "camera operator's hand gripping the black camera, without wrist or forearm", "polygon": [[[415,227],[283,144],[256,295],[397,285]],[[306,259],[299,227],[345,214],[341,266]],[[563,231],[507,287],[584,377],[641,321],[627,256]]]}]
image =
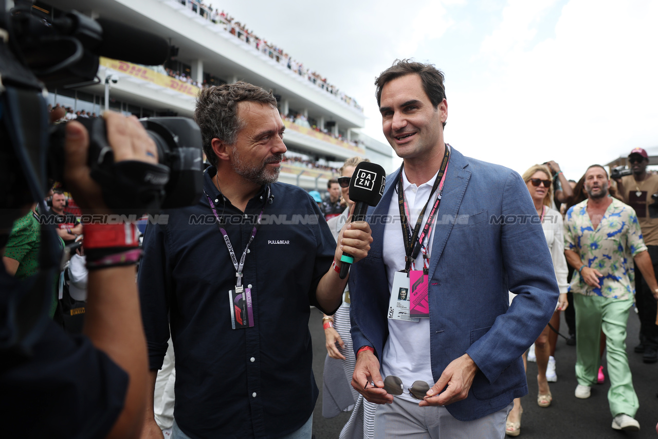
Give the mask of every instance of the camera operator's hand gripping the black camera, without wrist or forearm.
[{"label": "camera operator's hand gripping the black camera, without wrist or forearm", "polygon": [[[113,111],[103,114],[107,140],[114,151],[114,161],[138,160],[158,163],[157,149],[135,116],[126,117]],[[66,124],[64,181],[83,213],[107,213],[101,187],[89,176],[87,153],[89,133],[79,122]]]}]

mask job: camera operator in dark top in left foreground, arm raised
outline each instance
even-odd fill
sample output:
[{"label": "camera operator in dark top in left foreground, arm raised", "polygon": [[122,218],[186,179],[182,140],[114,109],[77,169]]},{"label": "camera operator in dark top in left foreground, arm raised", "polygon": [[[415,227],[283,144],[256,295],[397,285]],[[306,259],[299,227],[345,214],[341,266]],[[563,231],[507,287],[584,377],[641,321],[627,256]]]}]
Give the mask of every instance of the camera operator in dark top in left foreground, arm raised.
[{"label": "camera operator in dark top in left foreground, arm raised", "polygon": [[[157,163],[155,143],[134,116],[106,112],[104,117],[115,162]],[[11,221],[25,215],[30,197],[34,198],[24,189],[28,177],[8,143],[0,142],[6,167],[1,178],[6,179],[5,189],[14,192],[8,192],[0,206],[1,247],[7,242]],[[89,175],[88,145],[84,126],[69,122],[64,141],[64,182],[85,215],[107,213],[101,187]],[[111,227],[110,233],[105,227]],[[38,319],[23,319],[29,325],[16,324],[13,319],[20,319],[20,311],[25,313],[28,304],[23,301],[17,305],[18,312],[12,315],[11,301],[26,297],[28,290],[38,288],[39,280],[47,276],[42,276],[41,270],[32,282],[26,282],[0,270],[0,346],[7,346],[3,343],[14,335],[12,330],[18,328],[15,332],[20,332],[20,343],[16,344],[20,348],[9,344],[9,348],[0,349],[0,419],[7,437],[135,438],[141,432],[147,361],[134,263],[126,264],[125,259],[122,263],[108,262],[116,256],[115,243],[108,238],[116,226],[85,224],[84,232],[86,242],[109,243],[106,247],[96,245],[96,254],[103,256],[95,264],[93,260],[89,264],[88,255],[91,269],[84,336],[66,335],[45,311]],[[54,234],[54,230],[42,230],[42,253],[53,253]],[[101,263],[107,266],[100,267]],[[41,284],[45,287],[41,293],[49,294],[50,282]]]}]

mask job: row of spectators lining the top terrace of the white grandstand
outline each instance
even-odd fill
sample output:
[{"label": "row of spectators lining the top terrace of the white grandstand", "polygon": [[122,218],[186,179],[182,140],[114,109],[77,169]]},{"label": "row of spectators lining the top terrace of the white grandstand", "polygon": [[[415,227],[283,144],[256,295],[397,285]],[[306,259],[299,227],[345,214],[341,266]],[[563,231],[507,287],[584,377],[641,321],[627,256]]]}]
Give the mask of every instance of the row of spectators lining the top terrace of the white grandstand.
[{"label": "row of spectators lining the top terrace of the white grandstand", "polygon": [[[207,20],[211,20],[219,26],[224,26],[227,32],[236,38],[240,39],[244,43],[251,45],[257,51],[263,53],[266,57],[273,59],[277,63],[280,63],[290,70],[294,74],[298,74],[302,78],[306,78],[314,84],[320,90],[324,90],[327,93],[335,95],[340,100],[345,102],[347,105],[354,107],[363,112],[363,107],[357,103],[356,99],[349,97],[338,87],[333,84],[328,84],[326,78],[314,70],[303,65],[303,63],[293,59],[288,53],[284,52],[284,49],[278,47],[276,44],[269,43],[263,38],[257,36],[253,30],[249,30],[246,24],[243,24],[239,21],[236,21],[234,17],[230,16],[228,13],[219,11],[216,8],[213,8],[213,5],[205,5],[203,1],[197,0],[178,0],[182,5],[190,8],[194,13],[199,14]],[[172,75],[170,75],[172,76]],[[184,75],[182,75],[184,76]],[[203,84],[201,85],[203,86]],[[200,87],[200,86],[199,86]]]}]

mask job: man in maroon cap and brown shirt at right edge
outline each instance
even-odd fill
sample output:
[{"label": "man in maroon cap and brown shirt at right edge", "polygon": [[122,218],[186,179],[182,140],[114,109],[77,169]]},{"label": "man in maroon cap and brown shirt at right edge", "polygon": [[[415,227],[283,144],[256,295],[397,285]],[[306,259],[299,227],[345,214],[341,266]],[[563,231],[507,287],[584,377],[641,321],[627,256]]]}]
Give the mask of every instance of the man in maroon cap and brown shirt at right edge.
[{"label": "man in maroon cap and brown shirt at right edge", "polygon": [[[649,205],[655,199],[651,195],[658,193],[658,175],[647,172],[649,155],[642,148],[635,148],[628,154],[628,165],[632,175],[615,178],[619,195],[624,203],[630,205],[638,214],[642,238],[647,246],[653,263],[653,271],[658,274],[658,218],[651,215]],[[635,346],[636,353],[642,353],[644,363],[658,361],[658,326],[656,322],[657,301],[651,288],[639,270],[635,271],[635,301],[640,318],[640,344]]]}]

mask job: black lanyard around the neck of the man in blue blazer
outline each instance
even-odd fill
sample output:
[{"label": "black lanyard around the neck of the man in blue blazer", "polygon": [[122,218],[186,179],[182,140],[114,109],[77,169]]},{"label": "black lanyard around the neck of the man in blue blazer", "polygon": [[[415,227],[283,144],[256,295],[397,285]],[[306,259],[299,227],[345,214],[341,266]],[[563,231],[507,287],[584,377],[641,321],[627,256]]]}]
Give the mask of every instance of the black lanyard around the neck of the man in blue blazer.
[{"label": "black lanyard around the neck of the man in blue blazer", "polygon": [[397,182],[397,203],[400,211],[400,220],[402,224],[402,238],[405,243],[405,272],[409,272],[411,270],[411,263],[415,261],[415,259],[418,257],[418,253],[420,252],[422,241],[425,239],[426,236],[428,236],[428,232],[430,231],[432,222],[434,222],[434,218],[436,217],[436,213],[438,212],[439,205],[441,203],[441,194],[439,194],[439,196],[437,197],[436,202],[434,203],[434,207],[432,207],[432,211],[430,211],[430,215],[427,219],[427,222],[425,223],[425,226],[422,228],[422,233],[420,234],[419,237],[418,232],[420,232],[420,224],[422,223],[422,218],[425,216],[425,210],[427,209],[427,205],[430,203],[430,199],[432,199],[432,195],[434,195],[434,192],[436,192],[436,189],[439,187],[439,184],[443,179],[443,174],[445,174],[445,169],[447,168],[449,160],[450,160],[450,149],[448,145],[445,145],[445,152],[443,153],[443,161],[441,162],[439,173],[436,176],[436,180],[434,180],[434,186],[432,186],[432,192],[430,192],[430,196],[428,197],[425,205],[423,206],[422,211],[420,211],[420,214],[418,215],[418,219],[416,221],[416,226],[413,230],[413,234],[409,233],[410,226],[409,226],[409,222],[407,221],[406,211],[408,209],[407,209],[407,202],[405,201],[403,179],[402,179],[402,172],[404,172],[404,163],[400,168],[400,180],[399,182]]}]

